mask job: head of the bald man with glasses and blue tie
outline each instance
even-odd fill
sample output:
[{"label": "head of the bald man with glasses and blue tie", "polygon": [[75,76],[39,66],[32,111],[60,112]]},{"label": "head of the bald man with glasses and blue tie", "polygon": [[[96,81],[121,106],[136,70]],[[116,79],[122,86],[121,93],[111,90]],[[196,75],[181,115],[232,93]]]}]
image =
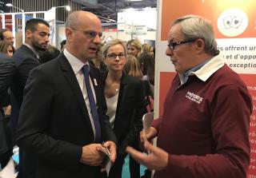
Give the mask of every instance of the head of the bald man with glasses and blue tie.
[{"label": "head of the bald man with glasses and blue tie", "polygon": [[102,23],[90,12],[78,10],[66,19],[66,50],[80,61],[94,58],[102,37]]}]

